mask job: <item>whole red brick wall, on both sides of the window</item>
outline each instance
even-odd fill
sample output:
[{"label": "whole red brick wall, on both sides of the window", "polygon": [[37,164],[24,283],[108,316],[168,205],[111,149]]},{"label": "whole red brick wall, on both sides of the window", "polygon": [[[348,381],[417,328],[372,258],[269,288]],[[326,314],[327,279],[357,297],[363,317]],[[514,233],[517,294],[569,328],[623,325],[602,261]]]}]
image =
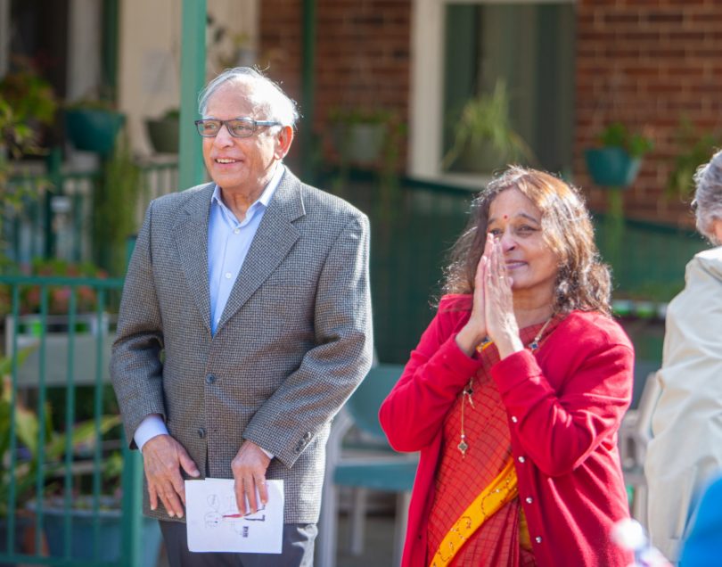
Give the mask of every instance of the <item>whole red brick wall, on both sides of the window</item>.
[{"label": "whole red brick wall, on both sides of the window", "polygon": [[[621,120],[656,144],[625,193],[628,216],[691,226],[688,205],[666,198],[664,188],[680,118],[701,130],[722,130],[722,1],[578,0],[577,13],[578,184],[593,208],[604,208],[606,193],[587,177],[583,150],[603,127]],[[317,0],[316,14],[313,127],[324,155],[332,157],[327,116],[334,107],[383,107],[408,119],[411,2]],[[300,0],[262,3],[262,62],[270,62],[270,75],[297,99],[301,21]],[[406,144],[401,147],[406,152]]]}]

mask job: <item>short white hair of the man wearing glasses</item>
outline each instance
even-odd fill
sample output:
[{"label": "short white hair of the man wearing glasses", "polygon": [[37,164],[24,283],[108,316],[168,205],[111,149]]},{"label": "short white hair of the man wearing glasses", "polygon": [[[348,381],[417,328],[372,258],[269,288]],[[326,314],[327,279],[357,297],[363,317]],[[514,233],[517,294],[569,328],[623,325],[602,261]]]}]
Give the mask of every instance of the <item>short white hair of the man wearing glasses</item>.
[{"label": "short white hair of the man wearing glasses", "polygon": [[254,110],[259,112],[256,119],[275,120],[281,122],[283,126],[295,127],[296,120],[299,119],[296,103],[274,81],[251,67],[226,69],[211,80],[198,96],[198,111],[201,117],[206,116],[210,97],[221,86],[230,82],[248,87],[248,100]]}]

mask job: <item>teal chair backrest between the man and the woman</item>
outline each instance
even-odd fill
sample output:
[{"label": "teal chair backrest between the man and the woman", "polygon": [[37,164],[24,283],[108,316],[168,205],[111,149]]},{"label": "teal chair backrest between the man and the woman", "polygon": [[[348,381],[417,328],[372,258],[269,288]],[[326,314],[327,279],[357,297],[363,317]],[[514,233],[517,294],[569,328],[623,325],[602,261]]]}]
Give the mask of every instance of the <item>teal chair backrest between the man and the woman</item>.
[{"label": "teal chair backrest between the man and the woman", "polygon": [[379,407],[398,382],[403,370],[402,365],[373,366],[346,404],[354,425],[374,439],[386,440],[379,424]]}]

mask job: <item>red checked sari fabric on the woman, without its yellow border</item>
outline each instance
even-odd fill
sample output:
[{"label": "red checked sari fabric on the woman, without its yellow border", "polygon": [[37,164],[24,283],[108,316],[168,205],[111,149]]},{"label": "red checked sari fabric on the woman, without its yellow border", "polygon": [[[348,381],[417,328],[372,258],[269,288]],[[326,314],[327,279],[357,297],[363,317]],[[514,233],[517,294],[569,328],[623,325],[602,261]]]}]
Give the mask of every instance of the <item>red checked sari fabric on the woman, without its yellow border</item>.
[{"label": "red checked sari fabric on the woman, without its yellow border", "polygon": [[[556,322],[552,326],[555,326]],[[521,341],[529,344],[542,325],[521,330]],[[545,334],[551,332],[551,328]],[[429,519],[427,557],[434,558],[449,530],[474,499],[496,479],[511,458],[512,448],[507,416],[490,369],[499,361],[496,346],[480,355],[484,364],[472,380],[472,404],[459,396],[444,421],[444,441],[436,474],[436,491]],[[457,447],[461,440],[462,403],[468,448],[465,456]],[[515,475],[513,477],[515,479]],[[514,481],[514,491],[515,481]],[[527,567],[536,565],[523,538],[519,497],[513,497],[496,513],[488,515],[480,528],[464,540],[453,559],[443,567]],[[527,535],[527,534],[523,534]],[[441,567],[441,565],[439,565]]]}]

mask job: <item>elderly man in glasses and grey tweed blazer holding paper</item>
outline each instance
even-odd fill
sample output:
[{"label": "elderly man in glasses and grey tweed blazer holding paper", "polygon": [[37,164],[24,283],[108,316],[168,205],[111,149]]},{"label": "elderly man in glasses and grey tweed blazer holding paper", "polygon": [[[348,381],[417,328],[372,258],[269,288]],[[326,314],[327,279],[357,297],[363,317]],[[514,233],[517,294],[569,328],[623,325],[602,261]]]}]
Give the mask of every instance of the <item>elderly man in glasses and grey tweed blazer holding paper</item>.
[{"label": "elderly man in glasses and grey tweed blazer holding paper", "polygon": [[[330,423],[371,364],[368,220],[283,166],[298,113],[258,71],[200,112],[213,181],[149,206],[111,378],[171,565],[311,565]],[[242,513],[282,479],[283,553],[189,553],[184,477],[233,477]]]}]

